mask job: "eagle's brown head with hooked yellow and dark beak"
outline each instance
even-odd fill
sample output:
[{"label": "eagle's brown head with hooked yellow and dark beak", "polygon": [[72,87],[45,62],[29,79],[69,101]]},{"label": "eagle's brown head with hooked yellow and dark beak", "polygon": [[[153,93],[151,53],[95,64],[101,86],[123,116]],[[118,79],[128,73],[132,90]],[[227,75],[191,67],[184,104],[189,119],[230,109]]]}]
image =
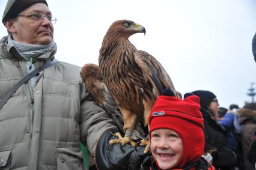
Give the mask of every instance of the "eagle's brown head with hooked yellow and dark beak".
[{"label": "eagle's brown head with hooked yellow and dark beak", "polygon": [[146,30],[144,26],[139,25],[138,23],[133,22],[132,20],[117,20],[109,27],[106,35],[112,35],[116,38],[126,38],[128,39],[130,35],[133,35],[138,32],[144,32],[146,34]]}]

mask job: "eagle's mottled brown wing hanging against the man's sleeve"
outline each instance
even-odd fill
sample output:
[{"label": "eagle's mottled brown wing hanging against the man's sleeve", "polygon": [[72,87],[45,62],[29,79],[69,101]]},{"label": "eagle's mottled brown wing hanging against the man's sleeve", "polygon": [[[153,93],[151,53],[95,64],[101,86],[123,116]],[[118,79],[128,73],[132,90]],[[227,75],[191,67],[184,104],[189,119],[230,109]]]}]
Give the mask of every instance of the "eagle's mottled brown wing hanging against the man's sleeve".
[{"label": "eagle's mottled brown wing hanging against the man's sleeve", "polygon": [[100,67],[96,64],[85,64],[81,69],[81,77],[84,80],[88,93],[91,94],[97,105],[106,109],[106,111],[116,111],[117,104],[109,94],[103,82]]}]

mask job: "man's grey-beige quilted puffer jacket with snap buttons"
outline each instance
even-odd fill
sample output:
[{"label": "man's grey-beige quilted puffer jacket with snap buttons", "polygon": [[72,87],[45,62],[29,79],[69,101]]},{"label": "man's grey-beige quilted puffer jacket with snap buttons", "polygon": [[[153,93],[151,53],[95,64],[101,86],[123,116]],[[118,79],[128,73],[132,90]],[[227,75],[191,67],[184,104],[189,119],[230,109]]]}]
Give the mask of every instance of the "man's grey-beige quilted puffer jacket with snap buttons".
[{"label": "man's grey-beige quilted puffer jacket with snap buttons", "polygon": [[[40,67],[53,57],[41,55]],[[15,47],[0,40],[0,101],[26,76],[25,61]],[[91,99],[80,68],[58,62],[28,81],[0,111],[0,169],[85,169],[79,140],[94,155],[105,130],[114,127],[108,114]]]}]

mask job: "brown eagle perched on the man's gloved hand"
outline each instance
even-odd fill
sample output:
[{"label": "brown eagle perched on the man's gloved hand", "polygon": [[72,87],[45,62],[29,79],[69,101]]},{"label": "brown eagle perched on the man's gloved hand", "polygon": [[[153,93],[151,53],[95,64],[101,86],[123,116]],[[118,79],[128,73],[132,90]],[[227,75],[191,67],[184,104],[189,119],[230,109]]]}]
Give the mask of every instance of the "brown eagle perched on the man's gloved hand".
[{"label": "brown eagle perched on the man's gloved hand", "polygon": [[117,20],[109,27],[102,41],[99,67],[103,82],[109,94],[117,103],[124,120],[124,138],[111,143],[122,145],[134,142],[133,131],[142,118],[147,125],[151,108],[163,89],[175,88],[168,73],[159,61],[143,50],[137,50],[129,41],[136,33],[144,33],[145,28],[132,20]]}]

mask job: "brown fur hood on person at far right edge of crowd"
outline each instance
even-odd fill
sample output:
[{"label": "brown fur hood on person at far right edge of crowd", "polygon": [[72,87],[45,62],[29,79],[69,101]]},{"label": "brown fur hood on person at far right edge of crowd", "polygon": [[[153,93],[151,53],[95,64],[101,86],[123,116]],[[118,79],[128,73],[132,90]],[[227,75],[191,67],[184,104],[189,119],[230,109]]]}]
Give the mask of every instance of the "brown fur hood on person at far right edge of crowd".
[{"label": "brown fur hood on person at far right edge of crowd", "polygon": [[238,110],[238,115],[240,118],[240,124],[243,124],[248,120],[256,123],[256,111],[254,110],[242,108]]}]

